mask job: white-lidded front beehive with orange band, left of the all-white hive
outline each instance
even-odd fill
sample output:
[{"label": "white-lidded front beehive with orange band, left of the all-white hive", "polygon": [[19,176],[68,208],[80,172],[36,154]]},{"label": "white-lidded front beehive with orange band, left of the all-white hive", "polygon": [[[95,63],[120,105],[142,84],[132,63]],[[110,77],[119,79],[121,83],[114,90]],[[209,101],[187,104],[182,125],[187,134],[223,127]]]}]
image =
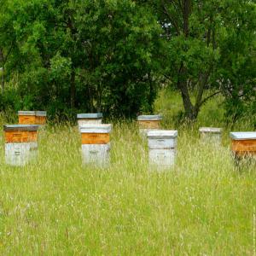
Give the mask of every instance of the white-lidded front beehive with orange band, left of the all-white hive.
[{"label": "white-lidded front beehive with orange band, left of the all-white hive", "polygon": [[79,128],[83,164],[107,167],[109,164],[112,125],[87,124]]}]

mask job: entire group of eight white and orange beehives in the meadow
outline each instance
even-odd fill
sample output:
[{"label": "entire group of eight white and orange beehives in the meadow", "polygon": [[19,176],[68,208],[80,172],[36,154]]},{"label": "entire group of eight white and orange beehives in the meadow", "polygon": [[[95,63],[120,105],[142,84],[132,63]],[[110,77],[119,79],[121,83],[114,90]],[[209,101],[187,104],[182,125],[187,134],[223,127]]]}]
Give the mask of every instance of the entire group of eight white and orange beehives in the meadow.
[{"label": "entire group of eight white and orange beehives in the meadow", "polygon": [[[82,161],[84,164],[108,166],[110,162],[110,132],[112,125],[102,124],[102,113],[77,115],[81,134]],[[149,166],[168,169],[177,155],[177,131],[160,130],[160,115],[138,116],[142,136],[148,138]],[[19,125],[4,125],[5,157],[9,165],[23,166],[37,157],[38,127],[45,125],[46,112],[20,111]],[[200,128],[201,139],[221,144],[222,129]],[[256,155],[256,132],[230,132],[232,151],[237,157]]]}]

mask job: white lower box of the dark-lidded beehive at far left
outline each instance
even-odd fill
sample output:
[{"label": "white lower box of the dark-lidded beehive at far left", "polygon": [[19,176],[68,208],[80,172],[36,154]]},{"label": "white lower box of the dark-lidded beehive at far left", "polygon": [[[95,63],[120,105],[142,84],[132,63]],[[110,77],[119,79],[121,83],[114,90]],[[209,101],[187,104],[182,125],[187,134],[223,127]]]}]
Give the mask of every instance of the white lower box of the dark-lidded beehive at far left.
[{"label": "white lower box of the dark-lidded beehive at far left", "polygon": [[38,143],[5,143],[5,161],[11,166],[25,166],[38,157]]}]

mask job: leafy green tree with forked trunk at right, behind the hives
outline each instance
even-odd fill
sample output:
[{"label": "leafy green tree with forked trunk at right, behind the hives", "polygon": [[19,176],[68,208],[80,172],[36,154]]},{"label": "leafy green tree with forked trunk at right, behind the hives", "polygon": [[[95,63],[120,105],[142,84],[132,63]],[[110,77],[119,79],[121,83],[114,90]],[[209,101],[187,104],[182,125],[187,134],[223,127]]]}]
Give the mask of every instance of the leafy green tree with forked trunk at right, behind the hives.
[{"label": "leafy green tree with forked trunk at right, behind the hives", "polygon": [[[180,91],[185,116],[196,119],[208,99],[226,91],[227,80],[230,81],[234,74],[234,70],[230,70],[231,63],[225,62],[227,55],[232,59],[232,55],[237,55],[237,49],[244,49],[246,45],[247,50],[240,50],[240,56],[252,59],[255,5],[250,0],[160,0],[154,3],[164,30],[162,38],[166,42],[164,75]],[[238,31],[241,31],[240,37],[247,35],[246,41],[236,40],[236,47],[230,48],[226,43]],[[241,73],[241,76],[240,86],[242,80],[247,79],[247,73]],[[204,96],[209,90],[212,94]]]}]

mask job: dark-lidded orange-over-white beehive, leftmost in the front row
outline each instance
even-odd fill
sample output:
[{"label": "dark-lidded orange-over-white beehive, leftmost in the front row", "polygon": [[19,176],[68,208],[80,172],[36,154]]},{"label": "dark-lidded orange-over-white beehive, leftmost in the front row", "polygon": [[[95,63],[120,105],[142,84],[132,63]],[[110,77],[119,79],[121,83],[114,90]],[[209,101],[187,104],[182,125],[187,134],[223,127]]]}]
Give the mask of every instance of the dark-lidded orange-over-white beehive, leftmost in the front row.
[{"label": "dark-lidded orange-over-white beehive, leftmost in the front row", "polygon": [[5,161],[24,166],[38,155],[38,125],[3,125]]}]

